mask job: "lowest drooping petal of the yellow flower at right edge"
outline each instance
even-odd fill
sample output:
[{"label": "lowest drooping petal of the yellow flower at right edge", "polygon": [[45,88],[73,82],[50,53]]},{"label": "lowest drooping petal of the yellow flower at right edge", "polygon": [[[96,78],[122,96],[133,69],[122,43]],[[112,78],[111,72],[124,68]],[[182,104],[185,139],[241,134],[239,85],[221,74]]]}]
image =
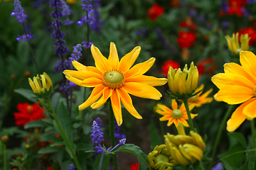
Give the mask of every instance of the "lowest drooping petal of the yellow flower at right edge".
[{"label": "lowest drooping petal of the yellow flower at right edge", "polygon": [[235,109],[235,111],[231,115],[231,118],[227,122],[228,132],[235,131],[245,121],[246,116],[242,113],[242,111],[248,103],[250,103],[250,101],[242,103],[238,108]]}]

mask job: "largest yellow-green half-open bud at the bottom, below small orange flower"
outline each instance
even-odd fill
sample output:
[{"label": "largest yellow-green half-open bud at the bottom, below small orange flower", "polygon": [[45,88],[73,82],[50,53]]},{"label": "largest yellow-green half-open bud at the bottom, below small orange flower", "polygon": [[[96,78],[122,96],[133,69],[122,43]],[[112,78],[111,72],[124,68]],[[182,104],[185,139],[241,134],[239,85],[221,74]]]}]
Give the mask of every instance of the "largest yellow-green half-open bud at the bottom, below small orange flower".
[{"label": "largest yellow-green half-open bud at the bottom, below small orange flower", "polygon": [[203,158],[203,149],[206,145],[198,133],[191,131],[188,136],[184,127],[178,123],[178,135],[164,135],[166,149],[178,164],[188,165],[201,161]]}]

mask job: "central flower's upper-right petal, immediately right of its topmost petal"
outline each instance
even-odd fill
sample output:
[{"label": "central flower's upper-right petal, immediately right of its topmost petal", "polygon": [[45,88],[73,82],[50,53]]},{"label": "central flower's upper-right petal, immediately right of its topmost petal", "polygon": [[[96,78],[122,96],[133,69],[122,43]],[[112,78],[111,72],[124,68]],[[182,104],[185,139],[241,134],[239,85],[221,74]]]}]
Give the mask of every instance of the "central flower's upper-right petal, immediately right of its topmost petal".
[{"label": "central flower's upper-right petal, immediately right of its topmost petal", "polygon": [[125,74],[129,70],[129,68],[132,67],[132,64],[134,64],[135,60],[137,60],[140,50],[141,47],[137,46],[134,47],[134,49],[127,55],[124,55],[124,57],[122,57],[122,59],[119,62],[118,70]]}]

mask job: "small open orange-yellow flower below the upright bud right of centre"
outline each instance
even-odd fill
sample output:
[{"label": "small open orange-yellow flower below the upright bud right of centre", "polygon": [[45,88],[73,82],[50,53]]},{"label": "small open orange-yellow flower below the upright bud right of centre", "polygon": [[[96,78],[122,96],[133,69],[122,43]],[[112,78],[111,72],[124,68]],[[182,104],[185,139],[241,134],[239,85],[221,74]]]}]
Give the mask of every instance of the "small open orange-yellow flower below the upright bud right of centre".
[{"label": "small open orange-yellow flower below the upright bud right of centre", "polygon": [[[171,101],[171,108],[167,108],[166,106],[162,104],[157,104],[156,106],[156,113],[159,113],[160,115],[164,115],[163,117],[159,118],[161,121],[168,120],[167,125],[170,126],[174,123],[174,125],[177,127],[178,123],[181,122],[184,126],[189,127],[186,120],[188,120],[188,114],[186,113],[186,108],[184,103],[181,104],[181,107],[178,108],[177,102],[173,99]],[[195,107],[195,104],[188,105],[189,111],[191,111]],[[191,114],[191,118],[195,118],[198,114]]]}]

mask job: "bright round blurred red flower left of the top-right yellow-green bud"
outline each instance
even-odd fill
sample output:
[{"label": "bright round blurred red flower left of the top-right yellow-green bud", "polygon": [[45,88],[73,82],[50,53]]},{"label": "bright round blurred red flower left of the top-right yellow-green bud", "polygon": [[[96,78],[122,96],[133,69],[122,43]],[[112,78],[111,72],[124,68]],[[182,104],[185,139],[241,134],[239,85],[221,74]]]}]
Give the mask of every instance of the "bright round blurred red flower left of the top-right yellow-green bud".
[{"label": "bright round blurred red flower left of the top-right yellow-green bud", "polygon": [[191,45],[196,42],[196,35],[188,31],[182,31],[178,33],[179,37],[177,38],[178,45],[181,48],[191,47]]}]

